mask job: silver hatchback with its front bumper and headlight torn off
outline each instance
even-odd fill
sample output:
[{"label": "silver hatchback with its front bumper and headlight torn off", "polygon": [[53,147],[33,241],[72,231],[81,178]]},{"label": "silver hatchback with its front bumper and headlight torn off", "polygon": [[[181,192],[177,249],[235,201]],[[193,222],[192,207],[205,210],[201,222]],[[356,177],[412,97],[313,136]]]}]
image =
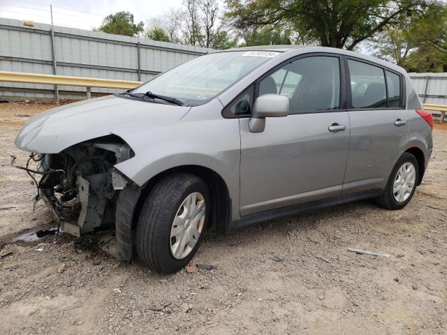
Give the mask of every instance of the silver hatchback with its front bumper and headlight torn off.
[{"label": "silver hatchback with its front bumper and headlight torn off", "polygon": [[[375,198],[402,209],[432,153],[433,119],[393,64],[326,47],[215,52],[140,87],[28,122],[15,144],[65,232],[154,271],[226,233]],[[108,235],[105,235],[108,236]]]}]

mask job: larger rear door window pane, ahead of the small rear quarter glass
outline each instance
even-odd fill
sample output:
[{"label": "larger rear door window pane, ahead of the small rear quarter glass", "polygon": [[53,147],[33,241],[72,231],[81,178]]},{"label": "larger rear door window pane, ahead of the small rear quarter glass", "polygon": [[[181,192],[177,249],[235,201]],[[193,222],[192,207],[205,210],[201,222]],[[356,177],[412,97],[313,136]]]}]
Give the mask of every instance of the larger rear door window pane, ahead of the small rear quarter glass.
[{"label": "larger rear door window pane, ahead of the small rear quarter glass", "polygon": [[353,108],[387,107],[383,69],[349,59]]}]

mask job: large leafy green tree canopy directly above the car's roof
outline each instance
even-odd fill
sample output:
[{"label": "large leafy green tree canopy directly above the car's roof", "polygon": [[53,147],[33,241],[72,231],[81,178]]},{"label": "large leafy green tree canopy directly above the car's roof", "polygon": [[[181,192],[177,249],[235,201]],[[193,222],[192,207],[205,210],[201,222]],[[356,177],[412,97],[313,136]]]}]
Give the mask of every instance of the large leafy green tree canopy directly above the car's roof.
[{"label": "large leafy green tree canopy directly above the car's roof", "polygon": [[[239,30],[292,27],[326,47],[353,50],[385,27],[436,0],[226,0],[226,17]],[[304,33],[303,33],[304,32]]]}]

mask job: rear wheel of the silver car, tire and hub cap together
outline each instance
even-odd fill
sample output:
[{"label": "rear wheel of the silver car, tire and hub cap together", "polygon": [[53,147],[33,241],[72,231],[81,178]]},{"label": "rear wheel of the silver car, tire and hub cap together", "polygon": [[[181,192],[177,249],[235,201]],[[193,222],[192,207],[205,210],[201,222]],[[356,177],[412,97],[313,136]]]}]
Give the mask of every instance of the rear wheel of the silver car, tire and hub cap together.
[{"label": "rear wheel of the silver car, tire and hub cap together", "polygon": [[[406,179],[411,179],[411,177],[409,177],[409,172],[406,171],[410,171],[410,165],[413,166],[412,173],[414,174],[414,179],[412,183],[413,186],[411,188],[409,188],[409,185],[411,185],[411,180],[406,180],[405,178],[399,177],[399,174],[402,174],[400,170],[402,169],[402,167],[404,167],[404,165],[406,166],[406,168],[404,168],[404,173],[408,173]],[[378,204],[383,208],[392,210],[404,208],[406,204],[410,202],[411,198],[413,198],[414,191],[416,191],[416,185],[418,184],[418,178],[419,166],[416,157],[412,154],[409,154],[408,152],[404,153],[395,164],[393,171],[390,174],[390,178],[388,179],[388,182],[386,184],[385,190],[383,191],[383,194],[376,199]],[[406,186],[406,188],[404,188],[405,192],[397,191],[400,189],[400,183],[402,183],[403,186]],[[397,188],[394,188],[394,186],[397,186]],[[403,193],[404,196],[402,196]]]}]

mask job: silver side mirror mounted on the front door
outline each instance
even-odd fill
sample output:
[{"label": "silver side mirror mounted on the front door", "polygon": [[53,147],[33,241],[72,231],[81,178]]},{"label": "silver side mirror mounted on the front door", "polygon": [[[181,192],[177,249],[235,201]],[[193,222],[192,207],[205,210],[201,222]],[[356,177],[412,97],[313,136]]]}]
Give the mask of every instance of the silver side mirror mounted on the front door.
[{"label": "silver side mirror mounted on the front door", "polygon": [[286,117],[288,115],[288,98],[279,94],[264,94],[254,102],[249,121],[251,133],[261,133],[265,129],[266,117]]}]

